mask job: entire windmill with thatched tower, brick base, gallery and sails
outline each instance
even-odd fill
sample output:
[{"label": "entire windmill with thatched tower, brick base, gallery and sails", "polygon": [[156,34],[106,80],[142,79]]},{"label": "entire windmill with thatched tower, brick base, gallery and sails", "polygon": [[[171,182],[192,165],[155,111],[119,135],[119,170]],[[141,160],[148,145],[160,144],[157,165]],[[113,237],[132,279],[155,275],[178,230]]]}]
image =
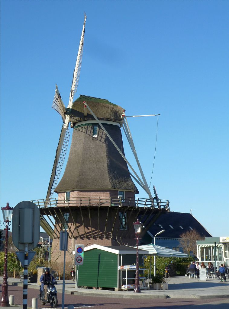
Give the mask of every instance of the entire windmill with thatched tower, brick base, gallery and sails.
[{"label": "entire windmill with thatched tower, brick base, gallery and sails", "polygon": [[[83,39],[84,28],[76,66],[81,64]],[[41,226],[54,238],[54,251],[59,251],[59,235],[63,229],[69,231],[70,250],[74,250],[76,243],[135,245],[133,222],[139,218],[144,225],[142,233],[146,233],[156,218],[169,210],[169,203],[151,196],[124,108],[106,99],[85,95],[80,95],[73,103],[74,81],[77,87],[79,79],[79,70],[76,69],[68,108],[65,108],[56,87],[53,107],[61,114],[63,127],[46,199],[33,201],[40,207]],[[71,149],[58,183],[68,144],[69,122],[73,128]],[[125,158],[121,128],[135,155],[141,178]],[[135,198],[138,189],[131,177],[149,198]],[[58,198],[50,198],[53,192],[58,193]]]}]

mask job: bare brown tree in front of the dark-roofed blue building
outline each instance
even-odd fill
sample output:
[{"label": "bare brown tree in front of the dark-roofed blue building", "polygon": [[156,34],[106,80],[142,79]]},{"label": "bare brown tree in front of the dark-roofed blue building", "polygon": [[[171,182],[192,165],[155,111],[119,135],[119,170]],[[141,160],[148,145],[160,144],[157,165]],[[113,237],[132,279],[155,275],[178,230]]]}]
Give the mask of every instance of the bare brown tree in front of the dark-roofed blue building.
[{"label": "bare brown tree in front of the dark-roofed blue building", "polygon": [[190,255],[190,252],[192,251],[195,255],[197,255],[197,240],[204,239],[197,230],[190,230],[182,233],[180,235],[179,244],[185,250],[188,252],[188,255]]}]

